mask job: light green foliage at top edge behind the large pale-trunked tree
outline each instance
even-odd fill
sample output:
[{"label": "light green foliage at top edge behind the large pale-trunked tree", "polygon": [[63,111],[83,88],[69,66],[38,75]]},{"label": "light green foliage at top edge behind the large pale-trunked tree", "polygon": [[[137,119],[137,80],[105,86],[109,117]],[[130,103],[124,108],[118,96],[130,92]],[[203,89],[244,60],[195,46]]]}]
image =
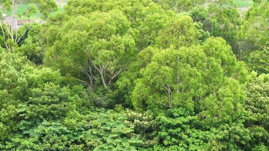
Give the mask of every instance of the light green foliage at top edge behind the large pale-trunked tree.
[{"label": "light green foliage at top edge behind the large pale-trunked tree", "polygon": [[137,48],[154,44],[157,33],[172,11],[166,11],[151,0],[72,0],[65,7],[68,15],[85,15],[89,12],[121,10],[131,22]]}]

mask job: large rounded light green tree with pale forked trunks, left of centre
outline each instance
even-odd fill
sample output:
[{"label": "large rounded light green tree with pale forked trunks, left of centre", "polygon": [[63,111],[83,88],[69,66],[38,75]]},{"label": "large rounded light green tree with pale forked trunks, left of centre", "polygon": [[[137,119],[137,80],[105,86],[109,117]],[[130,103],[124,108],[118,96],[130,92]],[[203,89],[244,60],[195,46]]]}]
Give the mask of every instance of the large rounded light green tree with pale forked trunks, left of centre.
[{"label": "large rounded light green tree with pale forked trunks, left of centre", "polygon": [[99,79],[105,87],[110,85],[137,51],[130,22],[119,10],[72,18],[59,32],[46,63],[76,68],[87,75],[90,82],[84,84],[89,86]]}]

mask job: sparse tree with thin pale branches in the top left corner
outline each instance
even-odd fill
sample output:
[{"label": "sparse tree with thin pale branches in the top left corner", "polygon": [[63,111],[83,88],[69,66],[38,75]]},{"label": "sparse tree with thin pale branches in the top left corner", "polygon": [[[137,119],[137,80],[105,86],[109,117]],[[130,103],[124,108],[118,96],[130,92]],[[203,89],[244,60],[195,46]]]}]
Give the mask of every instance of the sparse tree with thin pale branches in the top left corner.
[{"label": "sparse tree with thin pale branches in the top left corner", "polygon": [[[27,8],[21,12],[22,5],[26,4]],[[47,17],[49,12],[56,9],[57,5],[54,0],[0,0],[0,28],[5,48],[14,52],[15,46],[33,23],[30,22],[24,28],[19,28],[17,17],[25,19],[36,11],[40,11],[44,17]],[[8,14],[10,16],[7,16]]]}]

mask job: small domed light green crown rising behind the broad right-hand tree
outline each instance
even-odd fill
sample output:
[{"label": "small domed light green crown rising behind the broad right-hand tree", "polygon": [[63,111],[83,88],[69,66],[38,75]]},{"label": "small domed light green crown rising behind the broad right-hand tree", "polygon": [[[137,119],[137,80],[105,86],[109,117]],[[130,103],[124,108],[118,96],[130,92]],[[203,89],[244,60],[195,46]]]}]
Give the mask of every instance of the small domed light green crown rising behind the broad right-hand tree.
[{"label": "small domed light green crown rising behind the broad right-hand tree", "polygon": [[157,37],[157,46],[160,48],[191,46],[198,43],[200,38],[192,18],[189,16],[175,16],[169,20]]}]

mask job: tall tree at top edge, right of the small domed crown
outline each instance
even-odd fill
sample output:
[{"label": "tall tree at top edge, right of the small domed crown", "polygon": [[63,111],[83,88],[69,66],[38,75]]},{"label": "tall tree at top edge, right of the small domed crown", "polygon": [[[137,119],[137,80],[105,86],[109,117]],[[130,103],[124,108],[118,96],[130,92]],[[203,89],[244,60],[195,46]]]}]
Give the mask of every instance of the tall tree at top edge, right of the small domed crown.
[{"label": "tall tree at top edge, right of the small domed crown", "polygon": [[208,31],[211,36],[223,37],[238,53],[236,35],[241,19],[234,0],[209,0],[206,6],[193,7],[190,16],[194,21],[201,22],[204,31]]}]

